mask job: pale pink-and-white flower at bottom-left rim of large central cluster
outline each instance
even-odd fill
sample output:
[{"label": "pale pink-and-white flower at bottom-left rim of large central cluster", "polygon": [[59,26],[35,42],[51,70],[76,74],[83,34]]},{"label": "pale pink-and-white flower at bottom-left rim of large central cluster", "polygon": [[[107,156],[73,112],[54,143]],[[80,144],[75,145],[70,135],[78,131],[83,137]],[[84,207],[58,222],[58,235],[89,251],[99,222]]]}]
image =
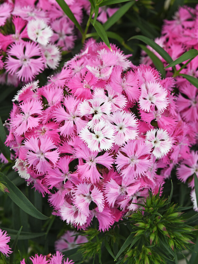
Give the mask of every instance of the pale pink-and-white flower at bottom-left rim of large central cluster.
[{"label": "pale pink-and-white flower at bottom-left rim of large central cluster", "polygon": [[76,206],[69,204],[65,201],[59,209],[62,220],[67,222],[67,224],[76,224],[82,226],[86,223],[87,216],[80,212]]}]

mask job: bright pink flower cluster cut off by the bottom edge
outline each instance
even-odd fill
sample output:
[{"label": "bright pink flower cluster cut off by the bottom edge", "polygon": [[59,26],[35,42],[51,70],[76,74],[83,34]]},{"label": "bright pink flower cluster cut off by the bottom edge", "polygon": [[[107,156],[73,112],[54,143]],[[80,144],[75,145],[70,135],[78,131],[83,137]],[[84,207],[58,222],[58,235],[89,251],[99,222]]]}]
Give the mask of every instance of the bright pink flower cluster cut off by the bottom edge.
[{"label": "bright pink flower cluster cut off by the bottom edge", "polygon": [[[32,264],[74,264],[73,260],[67,260],[63,258],[64,255],[62,255],[61,252],[56,251],[56,254],[51,255],[38,255],[36,254],[34,257],[30,257],[29,259],[32,261]],[[20,264],[26,264],[25,259],[20,261]]]}]

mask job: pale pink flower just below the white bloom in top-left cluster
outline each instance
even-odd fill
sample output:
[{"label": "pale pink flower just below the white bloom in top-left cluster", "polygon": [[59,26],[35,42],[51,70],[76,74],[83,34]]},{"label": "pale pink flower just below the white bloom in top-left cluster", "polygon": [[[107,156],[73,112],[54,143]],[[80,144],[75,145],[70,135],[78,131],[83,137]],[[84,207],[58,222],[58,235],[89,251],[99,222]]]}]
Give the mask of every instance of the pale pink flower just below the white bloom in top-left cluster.
[{"label": "pale pink flower just below the white bloom in top-left cluster", "polygon": [[61,60],[61,52],[55,44],[47,44],[46,46],[40,46],[45,58],[46,58],[46,67],[55,70]]}]

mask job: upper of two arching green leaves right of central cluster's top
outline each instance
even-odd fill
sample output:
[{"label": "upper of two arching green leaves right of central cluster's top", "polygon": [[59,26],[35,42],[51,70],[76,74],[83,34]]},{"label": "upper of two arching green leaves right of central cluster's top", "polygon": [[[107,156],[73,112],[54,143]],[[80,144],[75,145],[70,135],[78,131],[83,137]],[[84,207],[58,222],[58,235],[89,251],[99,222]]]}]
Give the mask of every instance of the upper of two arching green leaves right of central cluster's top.
[{"label": "upper of two arching green leaves right of central cluster's top", "polygon": [[155,43],[153,40],[151,40],[148,37],[145,36],[141,36],[141,35],[137,35],[137,36],[133,36],[130,37],[129,40],[131,39],[138,39],[143,41],[144,43],[146,43],[147,45],[149,45],[151,48],[153,48],[155,51],[157,51],[157,53],[167,62],[167,63],[171,63],[173,60],[171,58],[171,56],[163,49],[161,48],[157,43]]}]

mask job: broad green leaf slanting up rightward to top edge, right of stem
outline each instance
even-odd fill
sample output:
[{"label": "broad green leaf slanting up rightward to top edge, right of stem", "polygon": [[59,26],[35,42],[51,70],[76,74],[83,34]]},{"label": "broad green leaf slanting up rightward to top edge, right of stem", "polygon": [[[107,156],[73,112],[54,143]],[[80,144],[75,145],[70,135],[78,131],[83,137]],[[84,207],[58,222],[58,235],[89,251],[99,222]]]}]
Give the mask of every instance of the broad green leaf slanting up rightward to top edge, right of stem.
[{"label": "broad green leaf slanting up rightward to top edge, right of stem", "polygon": [[136,1],[130,1],[129,3],[126,3],[123,5],[120,9],[118,9],[112,16],[108,18],[108,20],[103,24],[104,29],[108,30],[111,26],[113,26],[118,19],[120,19],[124,14],[129,10],[132,5],[135,4]]}]

